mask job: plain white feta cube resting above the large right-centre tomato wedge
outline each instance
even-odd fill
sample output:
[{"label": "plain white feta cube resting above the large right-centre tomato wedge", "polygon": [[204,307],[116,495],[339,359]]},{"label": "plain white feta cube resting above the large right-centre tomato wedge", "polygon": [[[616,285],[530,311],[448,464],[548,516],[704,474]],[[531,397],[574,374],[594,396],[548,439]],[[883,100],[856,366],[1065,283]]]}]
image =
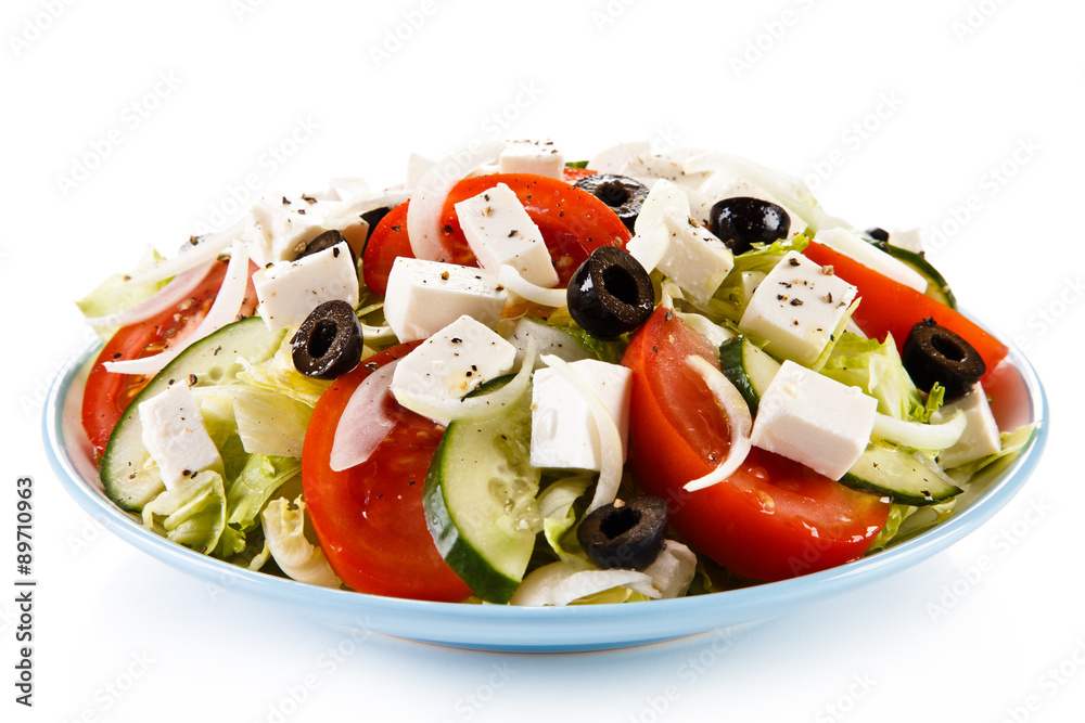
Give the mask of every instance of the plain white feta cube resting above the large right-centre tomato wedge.
[{"label": "plain white feta cube resting above the large right-centre tomato wedge", "polygon": [[755,447],[840,479],[870,441],[878,400],[786,361],[757,405]]}]

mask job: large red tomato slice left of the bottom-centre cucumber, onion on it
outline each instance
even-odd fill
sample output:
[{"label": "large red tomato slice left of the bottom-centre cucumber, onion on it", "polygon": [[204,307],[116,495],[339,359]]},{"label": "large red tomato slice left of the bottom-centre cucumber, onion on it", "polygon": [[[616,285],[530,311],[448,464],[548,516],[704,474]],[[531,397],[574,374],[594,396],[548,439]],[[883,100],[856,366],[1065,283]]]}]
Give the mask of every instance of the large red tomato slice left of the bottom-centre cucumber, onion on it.
[{"label": "large red tomato slice left of the bottom-centre cucumber, onion on it", "polygon": [[422,507],[444,427],[390,399],[385,412],[395,425],[369,460],[343,472],[329,466],[335,427],[354,390],[418,344],[371,357],[321,396],[305,435],[302,486],[320,547],[343,582],[373,595],[454,603],[471,589],[442,559]]}]

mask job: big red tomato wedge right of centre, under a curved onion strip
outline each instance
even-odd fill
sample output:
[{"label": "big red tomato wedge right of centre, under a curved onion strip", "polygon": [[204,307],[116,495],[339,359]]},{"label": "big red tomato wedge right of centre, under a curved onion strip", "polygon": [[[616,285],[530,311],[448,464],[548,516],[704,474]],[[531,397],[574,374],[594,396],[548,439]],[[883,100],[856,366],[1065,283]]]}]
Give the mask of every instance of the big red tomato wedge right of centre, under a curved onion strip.
[{"label": "big red tomato wedge right of centre, under a curved onion strip", "polygon": [[718,351],[665,309],[638,330],[622,363],[633,371],[629,468],[640,489],[667,502],[692,547],[739,574],[782,580],[861,557],[890,504],[754,448],[726,481],[687,492],[730,447],[727,421],[689,369]]}]

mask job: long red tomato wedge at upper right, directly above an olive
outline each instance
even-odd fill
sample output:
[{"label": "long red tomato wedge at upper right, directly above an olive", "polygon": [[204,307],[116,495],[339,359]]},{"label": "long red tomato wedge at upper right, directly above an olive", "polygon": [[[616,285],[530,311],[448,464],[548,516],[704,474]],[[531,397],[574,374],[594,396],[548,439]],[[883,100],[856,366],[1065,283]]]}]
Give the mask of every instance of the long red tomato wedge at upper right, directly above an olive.
[{"label": "long red tomato wedge at upper right, directly above an olive", "polygon": [[904,349],[911,327],[930,317],[972,345],[986,364],[988,375],[1009,351],[1005,344],[954,309],[851,257],[813,241],[804,254],[821,266],[831,266],[833,273],[859,289],[863,300],[852,317],[855,323],[882,340],[886,333],[892,334],[897,350]]}]

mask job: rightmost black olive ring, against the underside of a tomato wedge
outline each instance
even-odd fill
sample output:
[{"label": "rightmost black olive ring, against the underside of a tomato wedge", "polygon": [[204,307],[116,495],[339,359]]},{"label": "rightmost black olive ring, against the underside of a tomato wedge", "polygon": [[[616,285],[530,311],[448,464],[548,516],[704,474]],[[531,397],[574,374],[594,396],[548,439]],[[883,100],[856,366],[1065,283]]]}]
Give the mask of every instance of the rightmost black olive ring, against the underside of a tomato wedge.
[{"label": "rightmost black olive ring, against the underside of a tomato wedge", "polygon": [[945,387],[946,401],[967,395],[987,371],[972,345],[931,318],[911,327],[901,361],[923,391],[935,382]]}]

